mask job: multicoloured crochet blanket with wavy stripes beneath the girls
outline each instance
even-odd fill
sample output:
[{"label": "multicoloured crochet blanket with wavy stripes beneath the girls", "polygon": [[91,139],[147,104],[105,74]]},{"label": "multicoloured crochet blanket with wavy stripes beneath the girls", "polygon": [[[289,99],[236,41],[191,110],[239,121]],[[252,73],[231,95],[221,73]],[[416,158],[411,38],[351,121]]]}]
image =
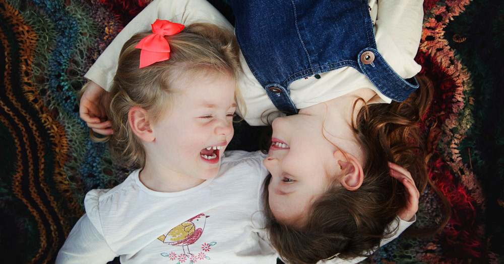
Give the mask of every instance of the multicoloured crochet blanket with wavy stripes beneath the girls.
[{"label": "multicoloured crochet blanket with wavy stripes beneath the girls", "polygon": [[[84,212],[86,192],[110,188],[129,172],[111,161],[104,144],[89,139],[77,95],[83,74],[148,2],[0,0],[3,263],[53,263]],[[233,21],[225,1],[212,4]],[[441,233],[402,236],[366,261],[504,262],[504,93],[498,89],[504,83],[504,5],[425,0],[424,9],[416,59],[435,95],[421,128],[432,154],[429,176],[453,215]],[[248,129],[237,127],[235,148],[250,145]],[[415,225],[435,223],[439,208],[426,190]]]}]

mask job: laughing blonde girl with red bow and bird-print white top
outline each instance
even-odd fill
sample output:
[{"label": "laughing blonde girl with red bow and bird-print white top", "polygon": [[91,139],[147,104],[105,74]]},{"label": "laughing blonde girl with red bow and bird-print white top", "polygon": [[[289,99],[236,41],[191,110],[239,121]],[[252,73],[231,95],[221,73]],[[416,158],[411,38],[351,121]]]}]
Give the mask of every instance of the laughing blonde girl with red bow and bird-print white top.
[{"label": "laughing blonde girl with red bow and bird-print white top", "polygon": [[234,37],[210,24],[182,28],[157,20],[124,44],[109,99],[110,147],[139,169],[86,195],[86,214],[56,263],[276,261],[259,236],[264,155],[223,155],[240,98]]}]

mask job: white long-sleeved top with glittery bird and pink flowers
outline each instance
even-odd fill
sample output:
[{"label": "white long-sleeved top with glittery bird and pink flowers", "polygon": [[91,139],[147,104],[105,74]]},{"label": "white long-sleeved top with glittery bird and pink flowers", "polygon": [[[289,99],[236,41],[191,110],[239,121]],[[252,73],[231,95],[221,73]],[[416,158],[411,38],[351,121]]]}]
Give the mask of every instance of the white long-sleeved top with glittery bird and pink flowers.
[{"label": "white long-sleeved top with glittery bird and pink flowers", "polygon": [[56,263],[275,263],[261,235],[264,157],[226,151],[216,178],[181,192],[148,189],[139,170],[90,191]]}]

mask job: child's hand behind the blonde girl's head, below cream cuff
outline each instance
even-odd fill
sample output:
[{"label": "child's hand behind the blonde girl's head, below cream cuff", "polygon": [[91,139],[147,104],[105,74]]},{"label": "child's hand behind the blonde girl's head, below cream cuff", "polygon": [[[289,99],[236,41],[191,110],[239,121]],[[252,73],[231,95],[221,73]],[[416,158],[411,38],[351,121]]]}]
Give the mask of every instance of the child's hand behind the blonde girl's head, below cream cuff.
[{"label": "child's hand behind the blonde girl's head, below cream cuff", "polygon": [[94,132],[102,135],[111,135],[113,134],[110,128],[111,124],[107,120],[105,106],[103,106],[101,100],[105,96],[105,93],[106,91],[100,85],[94,81],[89,81],[81,97],[79,114],[82,120]]}]

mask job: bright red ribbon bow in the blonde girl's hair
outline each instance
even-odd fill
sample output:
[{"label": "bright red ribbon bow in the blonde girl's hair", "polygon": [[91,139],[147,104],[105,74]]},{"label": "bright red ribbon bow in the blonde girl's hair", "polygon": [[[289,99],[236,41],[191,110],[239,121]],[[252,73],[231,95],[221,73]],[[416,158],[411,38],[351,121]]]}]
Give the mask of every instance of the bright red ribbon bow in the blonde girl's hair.
[{"label": "bright red ribbon bow in the blonde girl's hair", "polygon": [[175,35],[184,29],[184,25],[167,20],[156,19],[152,25],[152,34],[143,38],[135,48],[140,51],[140,68],[170,58],[170,45],[164,36]]}]

